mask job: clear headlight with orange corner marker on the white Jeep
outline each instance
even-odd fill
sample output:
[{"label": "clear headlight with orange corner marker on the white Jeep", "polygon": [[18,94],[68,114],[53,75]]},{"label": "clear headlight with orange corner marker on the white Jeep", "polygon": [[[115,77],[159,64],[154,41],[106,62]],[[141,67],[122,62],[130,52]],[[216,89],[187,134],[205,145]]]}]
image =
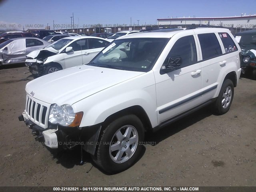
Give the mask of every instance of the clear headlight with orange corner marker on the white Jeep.
[{"label": "clear headlight with orange corner marker on the white Jeep", "polygon": [[61,126],[79,126],[83,112],[74,113],[72,106],[65,104],[58,106],[53,104],[50,108],[49,122]]}]

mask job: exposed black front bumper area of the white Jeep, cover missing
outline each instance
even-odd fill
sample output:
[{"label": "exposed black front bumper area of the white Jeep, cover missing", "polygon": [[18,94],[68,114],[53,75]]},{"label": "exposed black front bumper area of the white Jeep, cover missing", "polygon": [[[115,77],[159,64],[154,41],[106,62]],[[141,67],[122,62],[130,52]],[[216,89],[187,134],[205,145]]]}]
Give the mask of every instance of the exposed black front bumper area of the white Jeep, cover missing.
[{"label": "exposed black front bumper area of the white Jeep, cover missing", "polygon": [[32,134],[36,136],[38,142],[42,142],[45,146],[58,149],[72,149],[77,145],[94,155],[98,145],[101,124],[88,127],[63,127],[57,125],[49,125],[44,129],[32,122],[25,112],[18,117],[20,121],[24,121],[28,128],[32,129]]}]

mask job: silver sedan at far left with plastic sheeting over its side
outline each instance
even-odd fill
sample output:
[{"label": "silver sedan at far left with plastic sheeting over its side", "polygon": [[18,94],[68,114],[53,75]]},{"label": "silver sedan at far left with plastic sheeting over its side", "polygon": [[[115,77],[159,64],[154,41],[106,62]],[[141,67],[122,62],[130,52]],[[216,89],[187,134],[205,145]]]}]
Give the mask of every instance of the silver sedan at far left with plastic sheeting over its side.
[{"label": "silver sedan at far left with plastic sheeting over its side", "polygon": [[0,65],[24,63],[26,55],[50,43],[38,38],[15,38],[0,44]]}]

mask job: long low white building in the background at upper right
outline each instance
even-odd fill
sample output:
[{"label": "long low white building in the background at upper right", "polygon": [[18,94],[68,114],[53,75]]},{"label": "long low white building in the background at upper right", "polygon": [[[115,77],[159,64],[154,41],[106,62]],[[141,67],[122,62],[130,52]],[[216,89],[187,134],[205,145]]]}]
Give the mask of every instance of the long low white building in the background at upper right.
[{"label": "long low white building in the background at upper right", "polygon": [[158,19],[158,25],[178,25],[185,27],[191,24],[223,26],[227,28],[256,28],[256,15],[234,17],[188,17]]}]

